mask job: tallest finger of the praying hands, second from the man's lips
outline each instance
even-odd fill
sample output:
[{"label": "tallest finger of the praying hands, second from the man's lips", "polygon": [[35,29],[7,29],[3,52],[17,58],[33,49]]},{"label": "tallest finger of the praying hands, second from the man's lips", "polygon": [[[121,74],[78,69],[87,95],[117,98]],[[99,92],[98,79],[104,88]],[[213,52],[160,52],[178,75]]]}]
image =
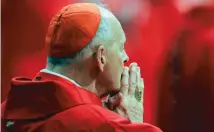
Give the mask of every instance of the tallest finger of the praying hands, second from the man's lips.
[{"label": "tallest finger of the praying hands, second from the man's lips", "polygon": [[137,87],[137,63],[132,63],[129,68],[129,94],[134,96]]}]

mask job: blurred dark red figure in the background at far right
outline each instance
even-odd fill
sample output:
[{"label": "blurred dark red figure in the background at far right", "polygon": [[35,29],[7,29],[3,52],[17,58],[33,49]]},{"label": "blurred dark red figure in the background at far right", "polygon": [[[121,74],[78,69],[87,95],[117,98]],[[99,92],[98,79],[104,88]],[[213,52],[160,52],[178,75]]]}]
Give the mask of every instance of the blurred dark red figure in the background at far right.
[{"label": "blurred dark red figure in the background at far right", "polygon": [[164,132],[214,131],[214,7],[185,15],[160,76],[159,120]]}]

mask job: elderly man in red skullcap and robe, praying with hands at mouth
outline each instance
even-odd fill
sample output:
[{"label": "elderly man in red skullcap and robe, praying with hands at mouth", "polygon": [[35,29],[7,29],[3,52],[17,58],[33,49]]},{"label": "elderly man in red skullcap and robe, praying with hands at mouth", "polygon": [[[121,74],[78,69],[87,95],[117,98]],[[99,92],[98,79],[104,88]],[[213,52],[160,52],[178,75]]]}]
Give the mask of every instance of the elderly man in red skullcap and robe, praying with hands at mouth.
[{"label": "elderly man in red skullcap and robe, praying with hands at mouth", "polygon": [[89,3],[64,7],[48,28],[46,69],[34,79],[12,79],[2,104],[4,130],[160,132],[143,123],[140,68],[124,67],[125,41],[107,9]]}]

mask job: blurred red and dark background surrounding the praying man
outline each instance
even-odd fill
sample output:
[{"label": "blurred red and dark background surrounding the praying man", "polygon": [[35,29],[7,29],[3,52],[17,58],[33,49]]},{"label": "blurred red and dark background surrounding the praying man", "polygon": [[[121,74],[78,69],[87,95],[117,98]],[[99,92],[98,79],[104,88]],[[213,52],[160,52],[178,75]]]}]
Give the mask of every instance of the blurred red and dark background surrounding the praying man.
[{"label": "blurred red and dark background surrounding the praying man", "polygon": [[[15,76],[45,67],[49,21],[74,2],[121,21],[145,80],[144,121],[164,132],[214,132],[214,0],[2,0],[1,101]],[[23,97],[24,98],[24,97]]]}]

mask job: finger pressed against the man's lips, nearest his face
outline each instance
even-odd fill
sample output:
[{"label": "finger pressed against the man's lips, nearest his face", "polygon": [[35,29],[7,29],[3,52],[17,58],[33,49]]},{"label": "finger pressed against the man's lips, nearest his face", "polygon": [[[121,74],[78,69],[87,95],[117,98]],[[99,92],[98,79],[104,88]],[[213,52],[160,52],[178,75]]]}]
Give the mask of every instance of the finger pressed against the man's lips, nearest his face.
[{"label": "finger pressed against the man's lips, nearest his face", "polygon": [[129,88],[129,68],[125,66],[123,68],[122,78],[121,78],[121,88],[120,91],[123,95],[128,94]]}]

